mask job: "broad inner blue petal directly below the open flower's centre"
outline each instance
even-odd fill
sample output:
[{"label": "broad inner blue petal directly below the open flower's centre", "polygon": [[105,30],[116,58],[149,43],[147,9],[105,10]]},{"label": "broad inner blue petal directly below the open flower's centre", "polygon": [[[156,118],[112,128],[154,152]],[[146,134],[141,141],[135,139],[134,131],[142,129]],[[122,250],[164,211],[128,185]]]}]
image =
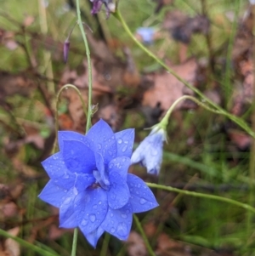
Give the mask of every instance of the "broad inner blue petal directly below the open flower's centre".
[{"label": "broad inner blue petal directly below the open flower's centre", "polygon": [[107,213],[107,197],[101,188],[87,189],[77,196],[75,211],[79,227],[83,234],[88,234],[99,227]]}]

